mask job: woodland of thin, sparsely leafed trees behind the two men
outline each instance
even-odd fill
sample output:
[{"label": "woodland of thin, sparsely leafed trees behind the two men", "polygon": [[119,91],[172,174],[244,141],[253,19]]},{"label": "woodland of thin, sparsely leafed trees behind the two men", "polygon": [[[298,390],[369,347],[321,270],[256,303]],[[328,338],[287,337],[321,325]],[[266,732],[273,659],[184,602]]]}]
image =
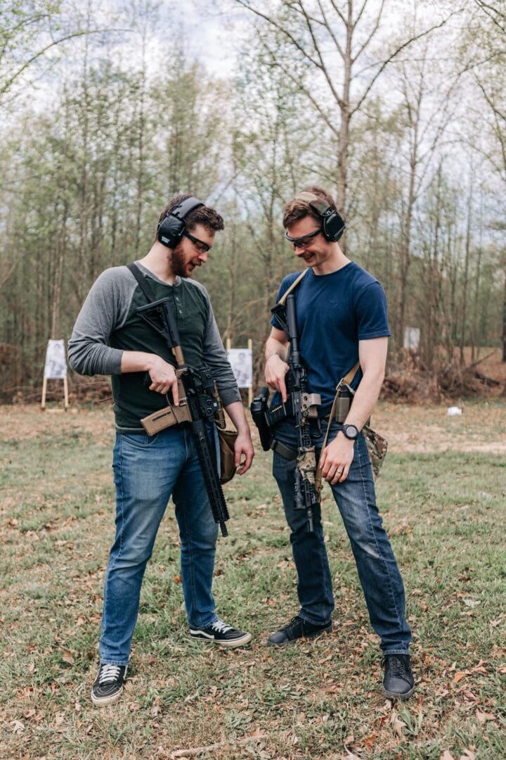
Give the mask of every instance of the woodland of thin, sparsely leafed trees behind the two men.
[{"label": "woodland of thin, sparsely leafed trees behind the two men", "polygon": [[[442,354],[464,358],[464,345],[506,345],[499,16],[448,3],[424,25],[417,2],[392,26],[367,2],[360,16],[347,4],[349,17],[336,3],[281,2],[272,16],[267,4],[262,16],[245,8],[251,34],[237,75],[222,81],[183,44],[153,71],[151,6],[129,20],[143,51],[129,63],[130,38],[116,55],[118,32],[91,34],[93,14],[63,17],[64,4],[40,2],[46,14],[35,17],[32,5],[17,8],[17,25],[0,15],[0,401],[39,385],[48,338],[70,337],[103,269],[147,252],[159,211],[181,191],[225,217],[199,279],[233,346],[252,337],[261,356],[279,280],[297,268],[282,208],[308,183],[335,194],[347,255],[385,287],[392,359],[407,327],[420,328],[428,369]],[[60,84],[41,113],[26,97],[30,66],[17,71],[51,24],[71,42],[52,62]]]}]

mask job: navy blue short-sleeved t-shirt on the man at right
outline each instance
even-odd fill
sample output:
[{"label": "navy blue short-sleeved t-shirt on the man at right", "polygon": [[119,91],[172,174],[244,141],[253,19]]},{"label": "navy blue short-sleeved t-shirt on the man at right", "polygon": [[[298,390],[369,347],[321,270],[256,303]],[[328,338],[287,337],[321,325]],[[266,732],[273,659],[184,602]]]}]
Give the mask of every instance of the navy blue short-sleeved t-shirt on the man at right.
[{"label": "navy blue short-sleeved t-shirt on the man at right", "polygon": [[[283,293],[300,272],[284,277],[278,290]],[[328,414],[335,386],[358,362],[359,340],[390,335],[388,306],[381,284],[354,261],[332,274],[314,274],[310,269],[294,290],[300,356],[307,369],[310,393],[322,397],[320,414]],[[281,330],[273,316],[271,325]],[[351,384],[362,378],[359,369]],[[278,401],[275,394],[273,404]]]}]

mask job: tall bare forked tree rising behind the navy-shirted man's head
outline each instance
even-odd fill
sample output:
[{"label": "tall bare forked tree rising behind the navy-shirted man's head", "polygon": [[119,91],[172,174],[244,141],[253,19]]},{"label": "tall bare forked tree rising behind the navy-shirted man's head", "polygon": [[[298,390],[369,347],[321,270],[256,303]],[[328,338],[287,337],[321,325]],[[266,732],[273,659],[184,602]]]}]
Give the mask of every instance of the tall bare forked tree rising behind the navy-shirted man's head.
[{"label": "tall bare forked tree rising behind the navy-shirted man's head", "polygon": [[[350,121],[360,112],[372,88],[388,64],[416,40],[444,26],[452,11],[437,24],[413,31],[391,46],[380,60],[362,65],[382,27],[386,0],[376,7],[370,0],[281,0],[279,13],[265,10],[266,3],[235,0],[269,25],[284,39],[292,58],[300,59],[313,77],[308,81],[294,72],[290,64],[273,55],[275,65],[313,107],[322,125],[335,136],[337,144],[337,203],[341,213],[347,208],[347,158]],[[335,66],[335,61],[340,63]],[[316,87],[315,79],[316,75]],[[330,107],[329,107],[329,104]],[[335,122],[332,106],[338,109]]]}]

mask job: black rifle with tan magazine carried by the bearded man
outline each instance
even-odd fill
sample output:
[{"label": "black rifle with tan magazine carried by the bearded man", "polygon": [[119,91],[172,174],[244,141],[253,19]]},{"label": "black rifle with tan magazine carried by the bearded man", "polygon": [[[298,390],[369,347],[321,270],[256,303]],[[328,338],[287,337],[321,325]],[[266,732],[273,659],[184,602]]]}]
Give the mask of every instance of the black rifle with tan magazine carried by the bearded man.
[{"label": "black rifle with tan magazine carried by the bearded man", "polygon": [[218,411],[218,401],[215,397],[215,382],[212,372],[206,367],[193,369],[184,361],[178,325],[172,312],[171,299],[140,306],[137,314],[148,325],[165,338],[176,359],[176,377],[178,378],[179,406],[168,404],[168,407],[150,414],[141,420],[146,432],[153,433],[178,423],[188,423],[195,442],[196,454],[206,485],[207,495],[211,504],[212,516],[222,535],[228,536],[225,521],[228,520],[227,502],[216,472],[216,449],[213,439],[209,446],[206,434],[206,422],[214,424],[214,415]]}]

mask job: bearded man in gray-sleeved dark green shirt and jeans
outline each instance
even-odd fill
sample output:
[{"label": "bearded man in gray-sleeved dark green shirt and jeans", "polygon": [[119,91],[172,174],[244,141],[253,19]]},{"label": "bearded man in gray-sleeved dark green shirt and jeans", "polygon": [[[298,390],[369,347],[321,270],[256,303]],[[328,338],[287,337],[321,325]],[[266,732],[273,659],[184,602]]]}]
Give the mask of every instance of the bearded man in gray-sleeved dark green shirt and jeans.
[{"label": "bearded man in gray-sleeved dark green shirt and jeans", "polygon": [[[215,233],[223,226],[214,209],[190,195],[177,195],[160,214],[149,253],[136,264],[153,299],[170,299],[188,365],[211,369],[237,428],[235,464],[242,475],[253,459],[250,429],[209,296],[190,280],[193,270],[207,261]],[[218,527],[189,426],[175,425],[149,436],[140,423],[167,406],[169,392],[174,405],[179,402],[171,350],[137,314],[145,305],[143,288],[130,268],[107,269],[86,297],[69,341],[72,368],[83,375],[112,375],[115,399],[116,534],[105,574],[100,668],[92,689],[93,703],[99,706],[120,698],[140,586],[171,496],[181,537],[190,636],[225,647],[251,639],[250,633],[234,629],[215,613],[212,575]]]}]

